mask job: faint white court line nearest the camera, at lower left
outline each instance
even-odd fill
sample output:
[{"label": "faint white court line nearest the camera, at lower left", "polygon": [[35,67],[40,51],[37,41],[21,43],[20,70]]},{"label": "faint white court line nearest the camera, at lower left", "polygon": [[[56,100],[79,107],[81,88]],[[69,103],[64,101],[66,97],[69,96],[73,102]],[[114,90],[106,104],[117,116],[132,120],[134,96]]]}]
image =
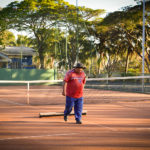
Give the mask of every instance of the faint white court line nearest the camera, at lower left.
[{"label": "faint white court line nearest the camera, at lower left", "polygon": [[0,141],[5,140],[20,140],[20,139],[30,139],[30,138],[41,138],[41,137],[52,137],[52,136],[68,136],[68,135],[74,135],[77,133],[62,133],[62,134],[49,134],[49,135],[39,135],[39,136],[23,136],[23,137],[12,137],[12,138],[4,138],[0,139]]}]

